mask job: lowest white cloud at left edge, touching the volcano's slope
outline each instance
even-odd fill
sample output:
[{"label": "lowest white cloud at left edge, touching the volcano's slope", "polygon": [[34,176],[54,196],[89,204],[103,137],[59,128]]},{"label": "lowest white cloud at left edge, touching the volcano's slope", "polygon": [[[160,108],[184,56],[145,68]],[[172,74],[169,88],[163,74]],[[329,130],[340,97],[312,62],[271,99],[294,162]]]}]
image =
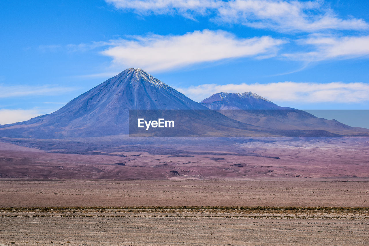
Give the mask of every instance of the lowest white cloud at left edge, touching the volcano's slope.
[{"label": "lowest white cloud at left edge, touching the volcano's slope", "polygon": [[44,114],[38,109],[0,109],[0,124],[21,122]]}]

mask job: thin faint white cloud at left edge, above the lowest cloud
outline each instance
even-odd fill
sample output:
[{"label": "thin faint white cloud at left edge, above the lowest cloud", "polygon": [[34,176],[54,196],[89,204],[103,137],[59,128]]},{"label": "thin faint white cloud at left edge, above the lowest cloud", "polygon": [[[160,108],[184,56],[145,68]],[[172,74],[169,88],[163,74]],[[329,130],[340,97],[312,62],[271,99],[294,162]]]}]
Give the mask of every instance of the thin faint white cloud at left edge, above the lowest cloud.
[{"label": "thin faint white cloud at left edge, above the lowest cloud", "polygon": [[16,96],[34,96],[34,95],[59,95],[60,93],[76,90],[75,87],[64,86],[28,86],[28,85],[0,85],[0,98],[10,98]]}]

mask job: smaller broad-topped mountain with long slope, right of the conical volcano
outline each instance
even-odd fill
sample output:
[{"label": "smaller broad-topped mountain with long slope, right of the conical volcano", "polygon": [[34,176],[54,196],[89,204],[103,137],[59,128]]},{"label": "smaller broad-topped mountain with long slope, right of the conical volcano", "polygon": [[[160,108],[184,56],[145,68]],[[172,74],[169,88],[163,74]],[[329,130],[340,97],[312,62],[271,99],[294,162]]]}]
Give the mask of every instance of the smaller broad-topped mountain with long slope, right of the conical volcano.
[{"label": "smaller broad-topped mountain with long slope, right of the conical volcano", "polygon": [[326,130],[336,134],[368,133],[337,120],[318,118],[303,110],[280,107],[252,92],[216,93],[200,102],[239,122],[276,130]]}]

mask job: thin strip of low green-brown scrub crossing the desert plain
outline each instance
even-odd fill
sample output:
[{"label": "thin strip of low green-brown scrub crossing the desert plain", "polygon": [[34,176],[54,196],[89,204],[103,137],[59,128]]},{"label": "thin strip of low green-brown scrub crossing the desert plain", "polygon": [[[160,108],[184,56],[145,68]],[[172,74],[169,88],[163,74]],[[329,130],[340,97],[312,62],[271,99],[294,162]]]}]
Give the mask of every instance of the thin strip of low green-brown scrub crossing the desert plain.
[{"label": "thin strip of low green-brown scrub crossing the desert plain", "polygon": [[0,217],[184,217],[267,219],[369,219],[368,207],[123,206],[0,208]]}]

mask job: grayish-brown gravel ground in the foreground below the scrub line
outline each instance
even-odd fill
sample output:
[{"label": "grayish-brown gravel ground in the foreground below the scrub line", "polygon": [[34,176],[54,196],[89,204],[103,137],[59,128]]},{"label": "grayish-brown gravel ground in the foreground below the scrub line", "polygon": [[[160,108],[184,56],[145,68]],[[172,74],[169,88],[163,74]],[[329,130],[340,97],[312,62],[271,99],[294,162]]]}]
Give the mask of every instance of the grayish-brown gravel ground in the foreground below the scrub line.
[{"label": "grayish-brown gravel ground in the foreground below the scrub line", "polygon": [[368,245],[368,233],[369,220],[346,219],[0,219],[4,245]]}]

